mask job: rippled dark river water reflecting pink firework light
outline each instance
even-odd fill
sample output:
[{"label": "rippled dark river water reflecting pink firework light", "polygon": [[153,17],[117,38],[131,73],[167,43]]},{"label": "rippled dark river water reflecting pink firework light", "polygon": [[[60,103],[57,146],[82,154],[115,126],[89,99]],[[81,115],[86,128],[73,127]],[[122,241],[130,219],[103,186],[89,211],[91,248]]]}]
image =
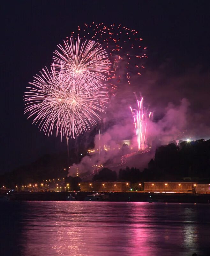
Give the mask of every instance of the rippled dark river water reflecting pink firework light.
[{"label": "rippled dark river water reflecting pink firework light", "polygon": [[0,255],[210,255],[210,205],[1,202]]}]

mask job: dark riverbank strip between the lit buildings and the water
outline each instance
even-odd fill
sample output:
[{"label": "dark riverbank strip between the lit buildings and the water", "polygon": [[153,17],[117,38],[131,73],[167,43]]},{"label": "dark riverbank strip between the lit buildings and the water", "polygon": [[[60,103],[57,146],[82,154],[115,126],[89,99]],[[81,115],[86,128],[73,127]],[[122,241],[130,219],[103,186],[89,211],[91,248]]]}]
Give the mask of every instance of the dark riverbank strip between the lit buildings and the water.
[{"label": "dark riverbank strip between the lit buildings and the water", "polygon": [[[66,201],[68,196],[76,201],[84,201],[92,192],[16,192],[10,198],[16,201]],[[99,194],[99,193],[98,193]],[[112,192],[103,193],[101,201],[109,202],[162,202],[162,203],[210,203],[210,194],[175,194]]]}]

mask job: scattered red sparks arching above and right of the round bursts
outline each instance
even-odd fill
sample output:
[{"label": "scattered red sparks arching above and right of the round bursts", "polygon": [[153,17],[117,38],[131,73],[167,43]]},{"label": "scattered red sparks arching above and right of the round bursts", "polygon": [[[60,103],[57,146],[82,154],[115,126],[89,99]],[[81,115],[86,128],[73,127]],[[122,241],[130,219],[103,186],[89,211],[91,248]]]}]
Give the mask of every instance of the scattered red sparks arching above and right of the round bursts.
[{"label": "scattered red sparks arching above and right of the round bursts", "polygon": [[[92,39],[106,48],[111,60],[111,71],[108,76],[111,92],[115,92],[117,84],[124,79],[130,85],[133,74],[141,76],[141,70],[145,68],[142,63],[147,56],[146,47],[142,45],[143,39],[139,37],[138,31],[121,24],[105,26],[104,23],[93,22],[91,25],[85,23],[84,27],[78,27],[78,31],[71,32],[71,36],[67,37],[66,41],[71,42],[71,38],[76,39],[77,36]],[[125,71],[122,72],[124,68]]]}]

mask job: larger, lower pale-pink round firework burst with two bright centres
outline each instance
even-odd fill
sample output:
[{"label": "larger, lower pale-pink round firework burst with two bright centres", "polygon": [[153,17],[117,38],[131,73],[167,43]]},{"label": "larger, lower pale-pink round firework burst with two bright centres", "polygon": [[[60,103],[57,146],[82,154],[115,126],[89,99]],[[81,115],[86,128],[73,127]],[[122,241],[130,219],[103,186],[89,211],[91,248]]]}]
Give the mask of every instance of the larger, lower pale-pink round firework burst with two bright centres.
[{"label": "larger, lower pale-pink round firework burst with two bright centres", "polygon": [[39,124],[40,131],[49,136],[55,129],[61,138],[75,138],[96,124],[95,119],[101,119],[108,96],[98,80],[92,82],[88,74],[85,81],[75,80],[64,76],[62,67],[58,73],[54,66],[40,73],[24,96],[25,113],[34,118],[33,124]]}]

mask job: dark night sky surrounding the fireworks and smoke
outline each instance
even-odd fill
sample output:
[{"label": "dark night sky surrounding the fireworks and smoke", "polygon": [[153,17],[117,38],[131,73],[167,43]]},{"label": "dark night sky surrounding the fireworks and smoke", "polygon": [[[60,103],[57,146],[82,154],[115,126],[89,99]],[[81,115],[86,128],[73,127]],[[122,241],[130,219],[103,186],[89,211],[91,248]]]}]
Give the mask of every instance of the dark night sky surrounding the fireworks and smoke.
[{"label": "dark night sky surrounding the fireworks and smoke", "polygon": [[[196,88],[187,96],[193,102],[194,95],[199,95],[201,100],[194,100],[199,103],[192,104],[196,111],[209,109],[208,101],[204,106],[202,103],[204,94],[204,99],[210,96],[209,13],[208,1],[4,1],[1,4],[0,173],[45,153],[65,149],[60,138],[48,138],[26,119],[23,93],[33,76],[49,66],[56,45],[85,22],[122,23],[138,30],[148,47],[146,67],[151,74],[152,70],[161,72],[164,65],[163,72],[169,78],[186,79],[191,74],[196,76],[199,70],[196,79],[201,84],[193,85]],[[191,92],[191,83],[186,82],[184,86],[183,94]],[[164,88],[167,90],[167,84]],[[178,97],[186,96],[179,91]],[[165,106],[168,101],[164,101]]]}]

